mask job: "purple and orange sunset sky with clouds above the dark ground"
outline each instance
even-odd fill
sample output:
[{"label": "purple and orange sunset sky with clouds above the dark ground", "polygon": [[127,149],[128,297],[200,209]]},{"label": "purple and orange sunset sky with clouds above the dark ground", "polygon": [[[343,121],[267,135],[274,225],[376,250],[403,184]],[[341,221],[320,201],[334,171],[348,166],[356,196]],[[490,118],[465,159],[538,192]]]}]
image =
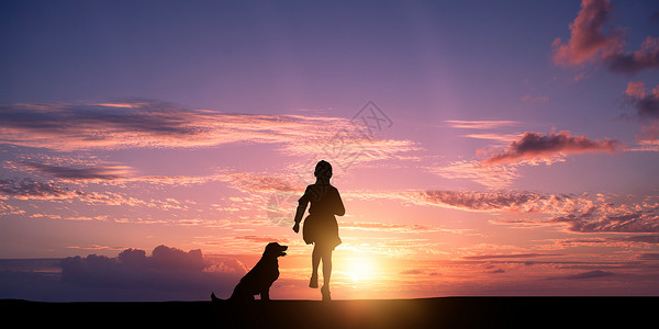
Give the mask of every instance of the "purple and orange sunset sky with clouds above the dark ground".
[{"label": "purple and orange sunset sky with clouds above the dark ground", "polygon": [[[658,1],[2,1],[0,298],[659,294]],[[62,261],[60,261],[62,260]]]}]

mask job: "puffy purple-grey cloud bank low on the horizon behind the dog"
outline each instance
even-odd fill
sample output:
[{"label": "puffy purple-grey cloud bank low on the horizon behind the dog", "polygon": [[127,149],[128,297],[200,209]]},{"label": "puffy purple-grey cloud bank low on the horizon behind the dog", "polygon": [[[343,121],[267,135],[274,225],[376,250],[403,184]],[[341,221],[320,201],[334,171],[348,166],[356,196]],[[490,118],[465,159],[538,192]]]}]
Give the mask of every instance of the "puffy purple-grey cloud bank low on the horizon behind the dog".
[{"label": "puffy purple-grey cloud bank low on the horizon behind the dog", "polygon": [[138,291],[147,300],[149,293],[158,296],[154,299],[163,295],[206,299],[212,291],[224,296],[244,273],[244,265],[235,260],[212,264],[199,249],[185,252],[167,246],[156,247],[152,256],[126,249],[116,258],[89,254],[62,260],[62,280],[67,284],[109,290],[112,296],[132,296],[132,291]]}]

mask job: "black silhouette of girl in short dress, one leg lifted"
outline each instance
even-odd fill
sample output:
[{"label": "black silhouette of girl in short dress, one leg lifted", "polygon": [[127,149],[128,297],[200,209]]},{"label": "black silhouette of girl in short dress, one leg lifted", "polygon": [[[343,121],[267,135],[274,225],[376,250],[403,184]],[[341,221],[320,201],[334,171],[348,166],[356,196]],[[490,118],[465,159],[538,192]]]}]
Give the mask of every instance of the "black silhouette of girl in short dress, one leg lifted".
[{"label": "black silhouette of girl in short dress, one leg lifted", "polygon": [[346,213],[338,190],[330,184],[332,178],[332,164],[321,160],[313,173],[316,177],[315,184],[306,186],[304,195],[298,201],[295,212],[295,225],[293,230],[300,231],[300,222],[311,202],[309,216],[304,219],[302,237],[306,245],[314,243],[311,257],[312,274],[309,286],[319,287],[319,265],[323,261],[323,287],[321,293],[323,300],[330,300],[330,277],[332,276],[332,251],[340,245],[338,237],[338,224],[334,215],[343,216]]}]

